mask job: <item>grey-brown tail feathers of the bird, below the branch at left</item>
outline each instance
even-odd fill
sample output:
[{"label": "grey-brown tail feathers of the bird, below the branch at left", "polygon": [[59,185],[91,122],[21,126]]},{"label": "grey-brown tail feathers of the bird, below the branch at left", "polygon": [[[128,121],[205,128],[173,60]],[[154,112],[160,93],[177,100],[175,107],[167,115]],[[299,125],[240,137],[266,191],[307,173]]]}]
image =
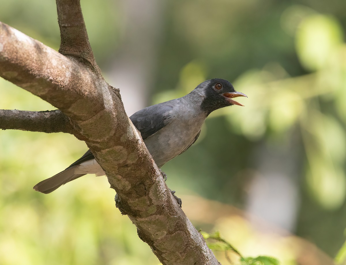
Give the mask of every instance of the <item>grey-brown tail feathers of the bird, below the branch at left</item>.
[{"label": "grey-brown tail feathers of the bird, below the branch at left", "polygon": [[43,180],[34,186],[34,190],[42,193],[51,193],[59,188],[61,185],[66,184],[71,180],[75,180],[85,174],[75,174],[76,166],[67,168],[64,171],[50,177],[49,179]]}]

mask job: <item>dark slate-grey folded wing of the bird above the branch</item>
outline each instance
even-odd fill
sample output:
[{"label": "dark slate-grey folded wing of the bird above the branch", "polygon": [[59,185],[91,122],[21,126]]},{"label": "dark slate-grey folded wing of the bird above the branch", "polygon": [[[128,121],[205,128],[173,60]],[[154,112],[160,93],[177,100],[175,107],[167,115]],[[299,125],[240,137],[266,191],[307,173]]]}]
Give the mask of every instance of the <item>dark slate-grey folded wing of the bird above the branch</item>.
[{"label": "dark slate-grey folded wing of the bird above the branch", "polygon": [[172,100],[156,104],[139,110],[130,117],[143,140],[169,124],[170,118],[173,117],[173,105]]}]

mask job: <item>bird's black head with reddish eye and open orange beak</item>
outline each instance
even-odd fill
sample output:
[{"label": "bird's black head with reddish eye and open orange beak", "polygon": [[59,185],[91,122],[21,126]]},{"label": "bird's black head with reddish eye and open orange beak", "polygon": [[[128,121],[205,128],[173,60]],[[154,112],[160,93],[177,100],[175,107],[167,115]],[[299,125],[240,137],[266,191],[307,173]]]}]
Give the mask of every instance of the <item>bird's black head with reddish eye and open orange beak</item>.
[{"label": "bird's black head with reddish eye and open orange beak", "polygon": [[208,114],[214,110],[239,105],[239,102],[233,100],[236,97],[247,97],[247,95],[235,91],[233,85],[225,79],[214,78],[207,80],[197,86],[195,91],[202,96],[201,108]]}]

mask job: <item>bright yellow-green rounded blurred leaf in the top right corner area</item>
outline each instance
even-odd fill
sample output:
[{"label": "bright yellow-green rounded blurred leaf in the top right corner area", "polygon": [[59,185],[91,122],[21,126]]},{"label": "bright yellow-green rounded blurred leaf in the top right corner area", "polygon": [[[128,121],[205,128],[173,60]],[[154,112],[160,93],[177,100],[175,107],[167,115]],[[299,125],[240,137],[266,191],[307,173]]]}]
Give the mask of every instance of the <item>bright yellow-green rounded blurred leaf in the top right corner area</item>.
[{"label": "bright yellow-green rounded blurred leaf in the top right corner area", "polygon": [[310,71],[324,68],[329,57],[343,43],[343,31],[335,18],[312,15],[297,30],[295,47],[301,64]]}]

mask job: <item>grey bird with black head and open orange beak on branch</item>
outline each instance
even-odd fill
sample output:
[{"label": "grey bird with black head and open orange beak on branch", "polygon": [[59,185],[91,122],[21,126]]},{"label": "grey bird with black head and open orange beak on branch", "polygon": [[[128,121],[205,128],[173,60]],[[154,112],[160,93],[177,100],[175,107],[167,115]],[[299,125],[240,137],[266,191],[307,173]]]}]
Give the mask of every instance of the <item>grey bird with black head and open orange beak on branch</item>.
[{"label": "grey bird with black head and open orange beak on branch", "polygon": [[[142,135],[156,165],[161,168],[197,140],[204,120],[212,111],[231,105],[243,106],[233,100],[236,97],[247,96],[235,91],[227,80],[215,78],[199,84],[182,98],[139,110],[130,120]],[[85,174],[106,175],[90,149],[64,171],[36,184],[34,189],[50,193]]]}]

